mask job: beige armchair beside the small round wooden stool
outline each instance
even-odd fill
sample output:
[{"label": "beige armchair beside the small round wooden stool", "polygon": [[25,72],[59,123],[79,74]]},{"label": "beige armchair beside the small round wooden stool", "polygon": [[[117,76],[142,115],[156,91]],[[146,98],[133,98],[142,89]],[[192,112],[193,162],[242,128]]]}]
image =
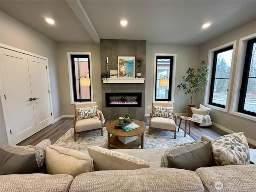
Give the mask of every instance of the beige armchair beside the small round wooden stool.
[{"label": "beige armchair beside the small round wooden stool", "polygon": [[[166,107],[172,109],[172,110],[169,110],[171,112],[170,114],[168,114]],[[170,115],[172,115],[172,118],[170,118]],[[173,113],[172,103],[165,103],[165,102],[152,103],[152,110],[149,116],[149,134],[151,134],[151,129],[172,131],[174,132],[174,139],[176,139],[176,124],[177,124],[177,116]]]}]

